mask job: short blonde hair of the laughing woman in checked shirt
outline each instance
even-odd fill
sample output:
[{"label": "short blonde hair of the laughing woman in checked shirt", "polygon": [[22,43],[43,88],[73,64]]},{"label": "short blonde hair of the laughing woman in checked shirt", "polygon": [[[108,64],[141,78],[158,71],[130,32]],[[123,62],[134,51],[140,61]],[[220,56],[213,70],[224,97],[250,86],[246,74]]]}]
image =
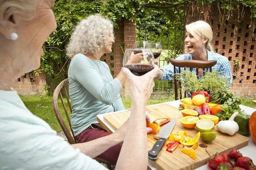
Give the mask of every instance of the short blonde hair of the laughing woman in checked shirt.
[{"label": "short blonde hair of the laughing woman in checked shirt", "polygon": [[193,36],[200,36],[201,38],[208,38],[208,41],[206,42],[206,49],[209,51],[213,51],[213,47],[211,45],[211,40],[213,37],[211,26],[203,21],[198,20],[195,22],[190,23],[189,25],[186,25],[186,30]]}]

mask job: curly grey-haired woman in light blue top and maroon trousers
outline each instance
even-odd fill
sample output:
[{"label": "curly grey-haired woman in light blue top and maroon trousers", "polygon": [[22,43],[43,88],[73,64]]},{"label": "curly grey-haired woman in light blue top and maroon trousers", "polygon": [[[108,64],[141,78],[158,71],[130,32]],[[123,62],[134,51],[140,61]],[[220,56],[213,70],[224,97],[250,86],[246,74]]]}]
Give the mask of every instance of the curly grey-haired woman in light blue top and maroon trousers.
[{"label": "curly grey-haired woman in light blue top and maroon trousers", "polygon": [[[72,59],[68,69],[71,127],[77,142],[109,135],[96,116],[125,109],[119,92],[126,78],[120,71],[113,79],[108,65],[100,60],[112,52],[113,43],[113,23],[96,14],[78,23],[67,46]],[[98,157],[116,163],[120,150],[117,144]]]}]

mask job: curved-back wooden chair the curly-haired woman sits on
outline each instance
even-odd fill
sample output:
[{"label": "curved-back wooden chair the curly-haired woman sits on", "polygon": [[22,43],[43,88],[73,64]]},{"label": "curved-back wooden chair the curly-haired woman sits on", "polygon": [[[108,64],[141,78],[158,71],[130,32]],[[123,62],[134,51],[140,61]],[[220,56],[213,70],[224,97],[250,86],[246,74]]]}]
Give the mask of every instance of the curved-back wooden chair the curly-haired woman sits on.
[{"label": "curved-back wooden chair the curly-haired woman sits on", "polygon": [[[63,98],[63,94],[65,95],[65,98]],[[61,99],[62,107],[64,108],[65,115],[68,120],[68,126],[65,123],[65,120],[60,111],[60,107],[58,106],[58,97],[60,97],[60,99]],[[66,102],[67,105],[65,104],[65,101],[64,101],[65,99],[67,101]],[[68,79],[63,80],[55,88],[55,90],[53,92],[52,105],[53,105],[53,110],[55,112],[58,123],[61,125],[61,128],[62,128],[65,136],[67,137],[68,142],[70,144],[77,143],[77,141],[74,137],[74,132],[73,132],[73,130],[71,128],[71,124],[70,124],[70,115],[72,113],[72,108],[71,108],[70,98],[69,98],[69,94],[68,94]],[[69,109],[67,109],[67,106]],[[108,169],[112,169],[112,165],[114,165],[113,163],[108,162],[108,161],[98,158],[98,157],[95,157],[94,159],[100,163],[106,164]]]}]

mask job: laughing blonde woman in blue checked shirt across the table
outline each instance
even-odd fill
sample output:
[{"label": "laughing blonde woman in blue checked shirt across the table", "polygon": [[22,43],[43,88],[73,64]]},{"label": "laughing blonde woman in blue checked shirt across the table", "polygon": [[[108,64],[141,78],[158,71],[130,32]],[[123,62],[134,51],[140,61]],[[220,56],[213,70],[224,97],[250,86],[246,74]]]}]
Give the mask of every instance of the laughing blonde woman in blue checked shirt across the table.
[{"label": "laughing blonde woman in blue checked shirt across the table", "polygon": [[[218,53],[213,52],[211,46],[212,29],[210,25],[202,20],[186,25],[185,47],[187,54],[180,55],[176,60],[202,60],[210,61],[216,60],[217,63],[212,67],[212,70],[220,72],[220,76],[226,77],[229,85],[232,83],[232,71],[228,59]],[[156,79],[171,80],[173,78],[173,65],[170,63],[160,68],[161,72]],[[201,77],[202,70],[199,70]]]}]

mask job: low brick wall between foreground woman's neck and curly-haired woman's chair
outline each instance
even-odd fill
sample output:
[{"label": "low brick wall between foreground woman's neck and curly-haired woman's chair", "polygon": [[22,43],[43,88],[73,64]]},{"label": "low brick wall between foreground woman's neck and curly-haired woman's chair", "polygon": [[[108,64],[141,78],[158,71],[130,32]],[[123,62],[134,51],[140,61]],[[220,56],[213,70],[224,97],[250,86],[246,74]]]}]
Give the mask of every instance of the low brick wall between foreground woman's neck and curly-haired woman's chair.
[{"label": "low brick wall between foreground woman's neck and curly-haired woman's chair", "polygon": [[21,78],[18,78],[12,85],[18,94],[29,95],[29,94],[44,94],[44,86],[46,85],[45,73],[35,76],[33,72],[25,74]]}]

